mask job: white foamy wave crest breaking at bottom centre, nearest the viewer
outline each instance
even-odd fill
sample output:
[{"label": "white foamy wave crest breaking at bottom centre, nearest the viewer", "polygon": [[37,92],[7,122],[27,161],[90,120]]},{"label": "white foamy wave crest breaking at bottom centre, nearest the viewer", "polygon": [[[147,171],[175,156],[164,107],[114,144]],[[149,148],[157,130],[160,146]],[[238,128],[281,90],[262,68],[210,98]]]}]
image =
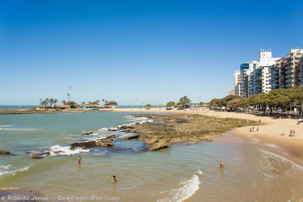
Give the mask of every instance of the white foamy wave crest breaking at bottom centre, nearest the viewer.
[{"label": "white foamy wave crest breaking at bottom centre, nearest the viewer", "polygon": [[200,188],[200,184],[201,182],[199,181],[199,177],[197,175],[193,175],[189,180],[181,181],[180,185],[182,185],[182,187],[170,190],[171,196],[161,199],[159,202],[184,201],[196,193]]}]

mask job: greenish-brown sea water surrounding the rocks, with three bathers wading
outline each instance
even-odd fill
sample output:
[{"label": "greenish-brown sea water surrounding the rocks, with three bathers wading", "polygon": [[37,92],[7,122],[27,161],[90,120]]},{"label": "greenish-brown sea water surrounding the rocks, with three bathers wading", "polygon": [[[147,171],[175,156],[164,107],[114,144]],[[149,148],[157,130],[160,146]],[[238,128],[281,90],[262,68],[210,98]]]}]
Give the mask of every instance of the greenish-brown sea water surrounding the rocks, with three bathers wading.
[{"label": "greenish-brown sea water surrounding the rocks, with three bathers wading", "polygon": [[[110,196],[120,201],[300,201],[303,168],[264,148],[234,143],[172,144],[145,152],[140,140],[70,150],[74,142],[125,134],[107,129],[151,121],[125,113],[0,116],[0,193]],[[86,132],[90,136],[80,136]],[[50,152],[43,159],[31,155]],[[58,152],[59,151],[59,152]],[[81,155],[81,164],[77,164]],[[224,159],[225,169],[220,170]],[[117,183],[112,184],[112,175]],[[1,194],[0,194],[1,195]]]}]

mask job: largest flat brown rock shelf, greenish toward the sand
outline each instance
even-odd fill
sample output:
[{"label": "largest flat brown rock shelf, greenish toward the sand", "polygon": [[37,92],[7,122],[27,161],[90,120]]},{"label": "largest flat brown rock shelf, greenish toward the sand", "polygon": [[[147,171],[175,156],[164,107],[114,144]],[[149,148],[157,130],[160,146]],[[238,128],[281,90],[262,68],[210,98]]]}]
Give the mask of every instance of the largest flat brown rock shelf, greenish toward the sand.
[{"label": "largest flat brown rock shelf, greenish toward the sand", "polygon": [[249,125],[242,119],[201,115],[136,114],[135,117],[151,118],[154,122],[121,126],[120,132],[135,133],[121,139],[139,138],[148,144],[148,151],[165,148],[172,143],[209,142],[212,140],[205,138],[207,135],[221,134],[234,127]]}]

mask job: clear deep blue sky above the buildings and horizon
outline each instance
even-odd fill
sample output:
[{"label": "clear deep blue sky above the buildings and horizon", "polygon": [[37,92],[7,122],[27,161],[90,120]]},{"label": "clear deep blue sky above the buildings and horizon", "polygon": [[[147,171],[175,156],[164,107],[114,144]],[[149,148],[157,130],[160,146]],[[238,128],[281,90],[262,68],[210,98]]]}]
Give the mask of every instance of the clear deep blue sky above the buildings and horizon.
[{"label": "clear deep blue sky above the buildings and horizon", "polygon": [[300,1],[1,1],[0,105],[221,98],[260,48],[303,48]]}]

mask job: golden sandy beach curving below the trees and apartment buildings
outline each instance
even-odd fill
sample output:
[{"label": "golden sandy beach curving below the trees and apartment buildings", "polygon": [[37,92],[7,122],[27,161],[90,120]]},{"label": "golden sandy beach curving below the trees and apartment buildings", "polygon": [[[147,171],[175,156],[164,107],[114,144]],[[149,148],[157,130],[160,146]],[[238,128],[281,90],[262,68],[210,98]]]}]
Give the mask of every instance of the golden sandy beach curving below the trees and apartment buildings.
[{"label": "golden sandy beach curving below the trees and apartment buildings", "polygon": [[[114,112],[148,112],[148,113],[174,113],[174,114],[200,114],[209,117],[218,118],[239,118],[255,121],[256,125],[261,118],[261,125],[258,132],[249,132],[249,127],[244,126],[235,128],[230,135],[210,136],[214,141],[219,142],[238,142],[241,144],[259,144],[270,151],[278,153],[283,157],[294,161],[303,166],[303,125],[297,125],[297,120],[290,118],[272,118],[266,116],[257,116],[253,114],[235,113],[235,112],[213,112],[210,110],[165,110],[160,109],[115,109]],[[290,130],[296,131],[294,137],[290,137]],[[284,133],[284,136],[280,135]],[[235,138],[234,138],[235,137]]]}]

